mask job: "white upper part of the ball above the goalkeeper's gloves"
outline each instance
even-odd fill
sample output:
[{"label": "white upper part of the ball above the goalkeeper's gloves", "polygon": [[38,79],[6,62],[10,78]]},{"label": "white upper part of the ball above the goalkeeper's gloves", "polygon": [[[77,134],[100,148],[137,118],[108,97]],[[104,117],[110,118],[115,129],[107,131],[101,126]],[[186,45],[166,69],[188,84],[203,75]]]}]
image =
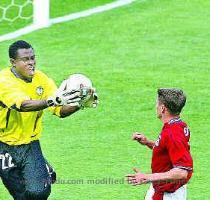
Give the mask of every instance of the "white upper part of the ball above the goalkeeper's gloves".
[{"label": "white upper part of the ball above the goalkeeper's gloves", "polygon": [[92,88],[92,81],[83,74],[72,74],[69,76],[66,82],[66,88],[68,90],[78,90],[81,88]]}]

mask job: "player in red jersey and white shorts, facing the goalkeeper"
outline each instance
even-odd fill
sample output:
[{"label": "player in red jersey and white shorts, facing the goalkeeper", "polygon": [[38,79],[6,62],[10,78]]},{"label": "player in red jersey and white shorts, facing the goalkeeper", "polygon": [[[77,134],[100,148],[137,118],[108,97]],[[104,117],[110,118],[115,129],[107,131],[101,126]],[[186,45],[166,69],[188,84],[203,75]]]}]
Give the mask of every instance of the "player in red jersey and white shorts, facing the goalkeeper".
[{"label": "player in red jersey and white shorts, facing the goalkeeper", "polygon": [[152,183],[145,200],[186,200],[186,184],[192,176],[193,161],[190,154],[190,131],[180,119],[186,96],[179,89],[158,89],[157,117],[163,122],[162,131],[154,142],[141,133],[133,140],[153,150],[152,173],[134,169],[127,175],[129,183]]}]

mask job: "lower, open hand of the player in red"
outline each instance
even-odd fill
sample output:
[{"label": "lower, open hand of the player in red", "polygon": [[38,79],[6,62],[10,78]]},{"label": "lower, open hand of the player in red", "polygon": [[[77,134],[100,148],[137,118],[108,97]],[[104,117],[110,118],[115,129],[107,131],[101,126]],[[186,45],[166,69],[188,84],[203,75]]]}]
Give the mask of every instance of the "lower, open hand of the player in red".
[{"label": "lower, open hand of the player in red", "polygon": [[136,185],[142,185],[149,183],[149,177],[147,174],[141,173],[138,169],[134,168],[133,169],[135,174],[128,174],[126,175],[127,181],[129,184],[136,186]]}]

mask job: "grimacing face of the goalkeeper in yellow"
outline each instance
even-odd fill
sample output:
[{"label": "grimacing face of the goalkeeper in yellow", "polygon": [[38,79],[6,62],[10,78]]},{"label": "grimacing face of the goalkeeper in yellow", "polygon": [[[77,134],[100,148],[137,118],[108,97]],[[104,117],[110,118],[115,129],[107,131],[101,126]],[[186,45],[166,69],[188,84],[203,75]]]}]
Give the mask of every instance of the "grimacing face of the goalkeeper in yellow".
[{"label": "grimacing face of the goalkeeper in yellow", "polygon": [[32,79],[35,74],[35,55],[32,48],[18,49],[16,59],[11,59],[16,72],[25,79]]}]

